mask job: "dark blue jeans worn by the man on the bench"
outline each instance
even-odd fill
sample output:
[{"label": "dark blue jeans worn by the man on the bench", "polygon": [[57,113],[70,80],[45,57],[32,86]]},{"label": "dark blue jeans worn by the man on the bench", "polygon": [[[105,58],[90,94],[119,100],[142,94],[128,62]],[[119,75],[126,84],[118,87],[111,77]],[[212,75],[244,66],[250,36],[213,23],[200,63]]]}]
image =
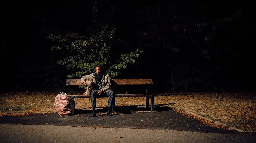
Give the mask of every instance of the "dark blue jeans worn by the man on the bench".
[{"label": "dark blue jeans worn by the man on the bench", "polygon": [[98,92],[100,90],[94,90],[91,92],[91,107],[95,108],[96,107],[96,98],[100,98],[100,97],[109,97],[109,102],[108,102],[108,107],[112,107],[112,103],[113,99],[115,99],[115,95],[114,92],[111,90],[102,92],[100,95],[98,95]]}]

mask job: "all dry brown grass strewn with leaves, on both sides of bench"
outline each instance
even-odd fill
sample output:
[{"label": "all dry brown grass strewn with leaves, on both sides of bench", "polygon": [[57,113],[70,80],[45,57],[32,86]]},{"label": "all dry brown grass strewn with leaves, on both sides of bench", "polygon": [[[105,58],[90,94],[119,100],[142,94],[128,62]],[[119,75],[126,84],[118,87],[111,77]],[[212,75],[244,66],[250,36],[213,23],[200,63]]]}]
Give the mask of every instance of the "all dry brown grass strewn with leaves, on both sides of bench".
[{"label": "all dry brown grass strewn with leaves, on both sides of bench", "polygon": [[[55,113],[57,94],[9,92],[0,95],[0,116],[24,116],[31,113]],[[256,98],[253,93],[190,93],[162,94],[155,97],[155,106],[178,107],[239,129],[256,130]],[[75,99],[76,109],[91,110],[89,98]],[[150,103],[150,101],[149,101]],[[97,107],[106,107],[107,98],[97,99]],[[116,106],[145,107],[145,97],[116,98]]]}]

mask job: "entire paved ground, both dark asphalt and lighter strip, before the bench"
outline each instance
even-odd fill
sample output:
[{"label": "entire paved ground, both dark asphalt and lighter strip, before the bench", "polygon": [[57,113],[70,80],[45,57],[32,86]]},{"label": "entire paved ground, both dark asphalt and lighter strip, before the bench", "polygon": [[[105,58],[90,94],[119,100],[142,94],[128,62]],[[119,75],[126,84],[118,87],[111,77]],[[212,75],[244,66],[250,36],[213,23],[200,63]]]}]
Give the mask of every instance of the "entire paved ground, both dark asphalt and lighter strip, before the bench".
[{"label": "entire paved ground, both dark asphalt and lighter strip, before the bench", "polygon": [[[89,111],[90,112],[90,111]],[[254,142],[255,134],[213,128],[173,110],[108,117],[57,113],[0,118],[0,142]],[[96,128],[95,128],[96,127]],[[64,136],[64,137],[63,137]],[[114,137],[117,138],[114,138]],[[122,137],[122,138],[120,138]],[[139,139],[138,139],[139,138]]]}]

